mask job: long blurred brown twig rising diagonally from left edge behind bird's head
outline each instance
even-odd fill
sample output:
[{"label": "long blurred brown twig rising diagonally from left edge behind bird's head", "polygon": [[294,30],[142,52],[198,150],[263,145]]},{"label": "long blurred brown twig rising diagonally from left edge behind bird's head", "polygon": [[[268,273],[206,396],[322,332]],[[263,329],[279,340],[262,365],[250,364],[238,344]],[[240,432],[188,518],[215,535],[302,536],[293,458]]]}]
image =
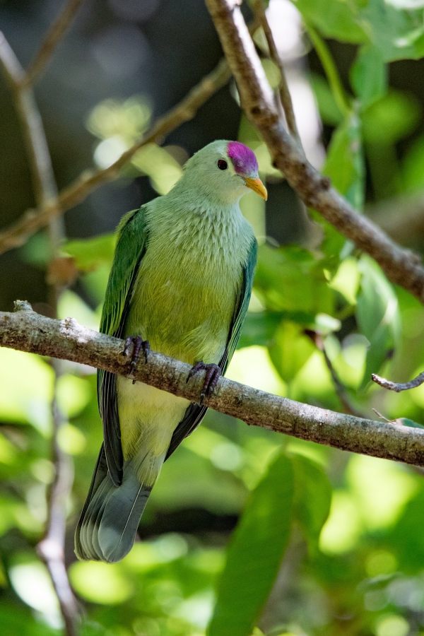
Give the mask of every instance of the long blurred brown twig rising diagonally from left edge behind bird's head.
[{"label": "long blurred brown twig rising diagonally from left edge behind bird's head", "polygon": [[119,174],[119,170],[134,156],[142,146],[153,141],[163,139],[177,126],[192,119],[199,108],[211,95],[225,86],[231,73],[228,64],[223,59],[211,73],[208,73],[190,92],[163,117],[160,117],[148,133],[134,143],[127,151],[104,170],[87,170],[77,177],[68,187],[59,193],[56,201],[47,206],[30,209],[23,216],[0,232],[0,254],[8,249],[19,247],[28,236],[43,228],[54,216],[59,216],[69,208],[83,201],[93,190],[107,181],[111,181]]}]

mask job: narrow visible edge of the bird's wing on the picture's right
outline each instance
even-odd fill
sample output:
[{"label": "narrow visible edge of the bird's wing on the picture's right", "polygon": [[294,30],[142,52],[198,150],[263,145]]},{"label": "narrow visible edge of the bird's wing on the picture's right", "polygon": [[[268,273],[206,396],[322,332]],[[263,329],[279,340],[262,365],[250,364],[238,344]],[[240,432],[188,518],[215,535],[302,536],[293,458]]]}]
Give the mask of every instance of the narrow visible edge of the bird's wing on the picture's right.
[{"label": "narrow visible edge of the bird's wing on the picture's right", "polygon": [[[249,307],[250,295],[252,294],[252,283],[253,283],[254,268],[256,266],[256,261],[257,261],[257,241],[256,239],[253,239],[252,244],[250,245],[249,254],[247,256],[247,262],[243,269],[243,284],[240,290],[240,295],[237,298],[237,303],[235,305],[235,312],[232,316],[230,331],[228,333],[227,346],[225,347],[224,355],[220,359],[220,363],[219,363],[219,366],[223,373],[225,373],[225,371],[227,370],[227,367],[232,358],[232,354],[235,352],[237,341],[240,338],[242,325],[245,320],[247,308]],[[187,435],[190,435],[190,433],[194,431],[196,426],[198,426],[201,423],[201,420],[203,420],[207,410],[208,410],[207,406],[200,406],[199,404],[190,404],[189,408],[187,408],[187,411],[184,414],[184,418],[181,420],[181,422],[175,429],[174,434],[172,435],[170,447],[167,451],[167,455],[165,459],[170,457],[170,455],[175,451],[177,446],[179,446],[182,440],[184,440],[184,437],[187,437]]]}]

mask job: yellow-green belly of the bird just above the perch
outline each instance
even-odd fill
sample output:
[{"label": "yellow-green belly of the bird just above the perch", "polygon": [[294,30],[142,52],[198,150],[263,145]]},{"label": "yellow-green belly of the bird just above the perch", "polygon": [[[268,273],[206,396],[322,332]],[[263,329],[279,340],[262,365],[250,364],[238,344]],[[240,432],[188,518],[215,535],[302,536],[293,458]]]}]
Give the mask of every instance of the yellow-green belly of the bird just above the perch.
[{"label": "yellow-green belly of the bird just above the perch", "polygon": [[[153,246],[154,247],[154,246]],[[242,266],[204,253],[148,249],[134,285],[126,334],[190,364],[225,351]]]}]

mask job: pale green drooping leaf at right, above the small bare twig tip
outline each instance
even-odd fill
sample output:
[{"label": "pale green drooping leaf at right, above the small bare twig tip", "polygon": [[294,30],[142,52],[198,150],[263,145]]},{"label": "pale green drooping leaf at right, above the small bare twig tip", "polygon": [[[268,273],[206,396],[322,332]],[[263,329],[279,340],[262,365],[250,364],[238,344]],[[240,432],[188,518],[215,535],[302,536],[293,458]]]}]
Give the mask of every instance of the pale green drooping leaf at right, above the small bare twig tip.
[{"label": "pale green drooping leaf at right, above the small bare twig tip", "polygon": [[359,267],[362,278],[356,319],[361,333],[370,341],[359,387],[363,390],[399,341],[401,326],[396,293],[382,270],[366,256],[361,257]]}]

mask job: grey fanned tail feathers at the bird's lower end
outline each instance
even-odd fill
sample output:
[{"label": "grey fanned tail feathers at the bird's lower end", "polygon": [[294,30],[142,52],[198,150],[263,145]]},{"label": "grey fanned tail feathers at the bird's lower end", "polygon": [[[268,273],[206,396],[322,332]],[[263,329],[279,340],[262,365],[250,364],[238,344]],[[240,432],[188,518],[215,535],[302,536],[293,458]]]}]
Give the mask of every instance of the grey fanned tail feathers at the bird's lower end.
[{"label": "grey fanned tail feathers at the bird's lower end", "polygon": [[131,462],[124,463],[122,484],[107,471],[102,445],[86,504],[75,531],[78,559],[114,563],[131,550],[151,488],[140,484]]}]

